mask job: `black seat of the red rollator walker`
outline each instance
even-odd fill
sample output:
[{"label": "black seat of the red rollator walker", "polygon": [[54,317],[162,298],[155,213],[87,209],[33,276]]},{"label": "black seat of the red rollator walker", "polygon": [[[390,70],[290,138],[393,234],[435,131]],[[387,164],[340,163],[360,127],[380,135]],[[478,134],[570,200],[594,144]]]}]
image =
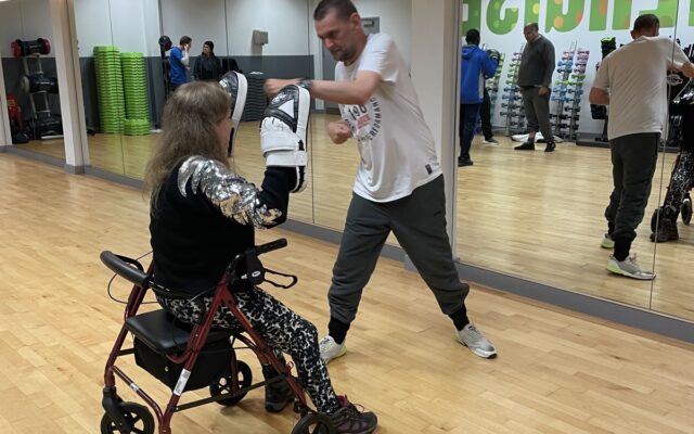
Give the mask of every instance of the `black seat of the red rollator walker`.
[{"label": "black seat of the red rollator walker", "polygon": [[[164,309],[136,315],[126,320],[126,328],[152,350],[160,355],[185,349],[192,327],[177,320]],[[229,339],[231,330],[210,330],[205,344]]]}]

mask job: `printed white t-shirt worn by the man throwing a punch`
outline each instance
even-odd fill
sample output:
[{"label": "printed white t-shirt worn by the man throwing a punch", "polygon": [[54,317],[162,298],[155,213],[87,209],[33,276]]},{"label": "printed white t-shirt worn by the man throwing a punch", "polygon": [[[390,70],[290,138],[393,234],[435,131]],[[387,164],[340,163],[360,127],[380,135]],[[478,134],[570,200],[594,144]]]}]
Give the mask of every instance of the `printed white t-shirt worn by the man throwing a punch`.
[{"label": "printed white t-shirt worn by the man throwing a punch", "polygon": [[359,71],[377,73],[381,82],[367,104],[339,105],[359,142],[355,193],[374,202],[391,202],[441,174],[434,137],[424,122],[410,72],[388,35],[369,35],[355,63],[337,63],[335,78],[354,80]]}]

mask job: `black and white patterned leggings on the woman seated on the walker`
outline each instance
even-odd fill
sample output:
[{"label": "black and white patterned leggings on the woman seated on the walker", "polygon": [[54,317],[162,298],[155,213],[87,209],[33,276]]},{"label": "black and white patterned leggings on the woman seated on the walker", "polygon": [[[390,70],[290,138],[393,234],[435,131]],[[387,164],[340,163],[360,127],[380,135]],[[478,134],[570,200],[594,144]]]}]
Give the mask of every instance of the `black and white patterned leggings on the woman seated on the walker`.
[{"label": "black and white patterned leggings on the woman seated on the walker", "polygon": [[[292,356],[299,382],[316,409],[326,414],[337,411],[339,404],[320,355],[316,326],[259,288],[236,292],[234,296],[241,311],[268,345],[275,353],[280,350]],[[165,310],[189,324],[201,322],[203,303],[205,310],[211,304],[211,297],[192,301],[157,296],[157,301]],[[213,327],[242,330],[227,306],[221,306],[215,314]]]}]

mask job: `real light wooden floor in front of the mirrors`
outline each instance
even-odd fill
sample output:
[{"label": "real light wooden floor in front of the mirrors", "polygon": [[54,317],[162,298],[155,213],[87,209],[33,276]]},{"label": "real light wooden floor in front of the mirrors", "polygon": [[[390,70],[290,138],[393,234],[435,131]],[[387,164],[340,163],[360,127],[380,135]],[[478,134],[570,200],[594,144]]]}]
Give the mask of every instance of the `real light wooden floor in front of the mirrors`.
[{"label": "real light wooden floor in front of the mirrors", "polygon": [[[123,318],[106,295],[111,273],[99,253],[149,251],[146,201],[140,191],[11,154],[0,154],[0,433],[95,433],[103,366]],[[300,282],[273,293],[323,332],[335,245],[281,230],[258,234],[259,242],[279,237],[290,247],[266,264]],[[113,288],[120,299],[128,291],[123,282]],[[376,411],[384,434],[694,432],[694,346],[478,286],[468,308],[497,344],[497,359],[454,342],[420,278],[382,259],[349,354],[330,365],[338,393]],[[125,366],[141,387],[166,396],[131,361]],[[172,427],[288,433],[295,421],[288,409],[266,413],[254,391],[234,408],[178,413]]]}]

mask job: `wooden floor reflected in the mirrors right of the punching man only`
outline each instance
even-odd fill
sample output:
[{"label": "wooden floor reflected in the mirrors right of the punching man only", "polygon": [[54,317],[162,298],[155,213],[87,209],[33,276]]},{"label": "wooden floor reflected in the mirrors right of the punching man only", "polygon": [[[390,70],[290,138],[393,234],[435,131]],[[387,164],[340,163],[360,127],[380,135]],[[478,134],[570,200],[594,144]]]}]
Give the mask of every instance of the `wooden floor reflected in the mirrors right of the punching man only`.
[{"label": "wooden floor reflected in the mirrors right of the punching man only", "polygon": [[[612,191],[609,150],[558,144],[545,154],[512,150],[475,138],[475,165],[459,169],[458,252],[462,260],[527,280],[604,298],[653,307],[694,320],[691,291],[694,228],[680,222],[681,240],[658,244],[657,278],[651,282],[611,276],[609,251],[600,247],[603,217]],[[667,189],[673,154],[665,155]],[[651,268],[651,214],[663,202],[658,162],[653,193],[632,246],[639,263]]]}]

